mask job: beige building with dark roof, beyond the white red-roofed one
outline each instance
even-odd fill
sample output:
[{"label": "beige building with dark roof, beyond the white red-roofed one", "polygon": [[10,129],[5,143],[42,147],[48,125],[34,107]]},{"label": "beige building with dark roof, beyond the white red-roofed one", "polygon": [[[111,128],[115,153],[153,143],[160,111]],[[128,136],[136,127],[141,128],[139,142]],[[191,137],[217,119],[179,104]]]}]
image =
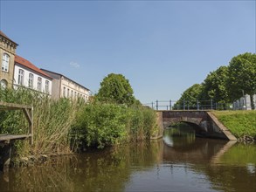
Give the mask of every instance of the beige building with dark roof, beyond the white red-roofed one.
[{"label": "beige building with dark roof, beyond the white red-roofed one", "polygon": [[57,72],[50,72],[45,69],[41,69],[43,72],[52,77],[52,99],[59,98],[81,98],[87,101],[90,96],[90,90],[85,86],[81,86],[72,79],[59,74]]}]

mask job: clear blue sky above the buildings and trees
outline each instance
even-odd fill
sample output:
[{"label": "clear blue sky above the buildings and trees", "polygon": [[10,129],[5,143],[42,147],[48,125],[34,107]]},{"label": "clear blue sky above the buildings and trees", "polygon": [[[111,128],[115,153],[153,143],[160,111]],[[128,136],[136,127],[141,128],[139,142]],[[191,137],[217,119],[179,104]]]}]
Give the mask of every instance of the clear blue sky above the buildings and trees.
[{"label": "clear blue sky above the buildings and trees", "polygon": [[121,73],[142,103],[179,99],[232,57],[256,51],[254,1],[3,1],[17,55],[96,93]]}]

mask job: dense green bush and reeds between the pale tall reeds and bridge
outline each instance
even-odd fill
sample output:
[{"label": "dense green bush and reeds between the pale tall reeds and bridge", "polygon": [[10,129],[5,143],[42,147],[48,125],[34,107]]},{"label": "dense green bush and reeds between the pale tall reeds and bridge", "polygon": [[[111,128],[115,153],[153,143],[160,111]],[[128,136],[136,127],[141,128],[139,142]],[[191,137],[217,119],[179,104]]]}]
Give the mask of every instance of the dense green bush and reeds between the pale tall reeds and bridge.
[{"label": "dense green bush and reeds between the pale tall reeds and bridge", "polygon": [[73,125],[73,134],[84,147],[101,148],[149,139],[155,131],[153,110],[98,102],[84,106]]}]

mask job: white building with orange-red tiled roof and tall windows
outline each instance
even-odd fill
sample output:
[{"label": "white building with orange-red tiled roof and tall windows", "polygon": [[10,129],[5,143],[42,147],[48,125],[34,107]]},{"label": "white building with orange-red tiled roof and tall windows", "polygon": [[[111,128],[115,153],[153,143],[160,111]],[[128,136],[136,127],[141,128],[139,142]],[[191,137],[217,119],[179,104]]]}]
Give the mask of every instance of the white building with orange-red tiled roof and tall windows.
[{"label": "white building with orange-red tiled roof and tall windows", "polygon": [[52,95],[52,77],[40,70],[30,61],[20,56],[15,56],[14,88],[24,86],[40,93]]}]

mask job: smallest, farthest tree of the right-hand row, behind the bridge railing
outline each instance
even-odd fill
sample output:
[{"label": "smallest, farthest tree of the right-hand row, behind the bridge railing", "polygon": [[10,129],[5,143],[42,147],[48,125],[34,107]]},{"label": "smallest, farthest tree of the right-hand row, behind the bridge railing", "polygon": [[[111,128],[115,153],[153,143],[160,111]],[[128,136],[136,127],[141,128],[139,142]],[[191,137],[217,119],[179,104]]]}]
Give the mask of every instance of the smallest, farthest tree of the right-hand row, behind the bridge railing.
[{"label": "smallest, farthest tree of the right-hand row, behind the bridge railing", "polygon": [[176,101],[174,108],[183,109],[183,105],[185,107],[190,107],[190,109],[197,108],[197,99],[201,92],[201,84],[194,84],[193,86],[190,86],[190,88],[183,92],[181,98]]}]

